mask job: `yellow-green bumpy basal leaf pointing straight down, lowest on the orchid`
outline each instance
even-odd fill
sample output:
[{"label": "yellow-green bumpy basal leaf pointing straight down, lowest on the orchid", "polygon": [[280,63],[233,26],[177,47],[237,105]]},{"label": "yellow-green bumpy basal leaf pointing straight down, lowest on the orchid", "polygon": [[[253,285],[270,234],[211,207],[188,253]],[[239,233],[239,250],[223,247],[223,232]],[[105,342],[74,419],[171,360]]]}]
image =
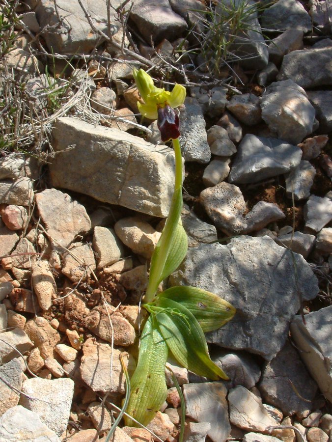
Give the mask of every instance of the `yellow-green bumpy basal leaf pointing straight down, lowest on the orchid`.
[{"label": "yellow-green bumpy basal leaf pointing straight down, lowest on the orchid", "polygon": [[[165,364],[168,349],[160,331],[150,315],[145,323],[138,354],[136,370],[131,378],[131,395],[127,413],[138,422],[147,425],[166,400]],[[137,423],[125,416],[125,424],[136,427]]]}]

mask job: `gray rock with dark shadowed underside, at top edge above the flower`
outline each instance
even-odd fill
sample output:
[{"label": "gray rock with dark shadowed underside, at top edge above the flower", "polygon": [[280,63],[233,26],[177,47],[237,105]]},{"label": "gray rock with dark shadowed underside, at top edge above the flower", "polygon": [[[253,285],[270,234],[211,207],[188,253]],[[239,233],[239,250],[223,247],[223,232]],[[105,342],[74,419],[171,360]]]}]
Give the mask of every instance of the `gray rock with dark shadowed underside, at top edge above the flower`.
[{"label": "gray rock with dark shadowed underside, at top edge above the flower", "polygon": [[154,42],[159,42],[165,36],[173,41],[188,27],[186,21],[171,9],[167,0],[158,3],[152,0],[135,0],[130,18],[148,44],[151,43],[151,37]]}]

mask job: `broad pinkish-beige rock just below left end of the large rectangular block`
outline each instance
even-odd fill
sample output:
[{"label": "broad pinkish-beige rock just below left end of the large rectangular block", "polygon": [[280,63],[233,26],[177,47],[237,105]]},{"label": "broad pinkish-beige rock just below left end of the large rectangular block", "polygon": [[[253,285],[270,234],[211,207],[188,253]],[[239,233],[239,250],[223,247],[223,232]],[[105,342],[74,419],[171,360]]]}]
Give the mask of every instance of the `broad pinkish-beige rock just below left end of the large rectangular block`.
[{"label": "broad pinkish-beige rock just below left end of the large rectangular block", "polygon": [[35,200],[53,248],[68,247],[77,235],[90,230],[85,207],[68,193],[45,189],[36,194]]}]

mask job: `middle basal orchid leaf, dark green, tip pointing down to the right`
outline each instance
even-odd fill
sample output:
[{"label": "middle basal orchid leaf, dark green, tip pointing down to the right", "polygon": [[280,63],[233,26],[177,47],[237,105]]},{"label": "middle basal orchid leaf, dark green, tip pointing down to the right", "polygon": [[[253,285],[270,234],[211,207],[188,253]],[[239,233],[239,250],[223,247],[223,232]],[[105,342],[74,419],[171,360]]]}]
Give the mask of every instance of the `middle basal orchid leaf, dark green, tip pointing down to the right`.
[{"label": "middle basal orchid leaf, dark green, tip pointing down to the right", "polygon": [[[199,376],[213,380],[229,379],[210,359],[204,333],[193,313],[183,305],[163,297],[158,297],[154,304],[164,308],[164,311],[155,314],[155,318],[174,358]],[[187,318],[172,314],[172,309]]]}]

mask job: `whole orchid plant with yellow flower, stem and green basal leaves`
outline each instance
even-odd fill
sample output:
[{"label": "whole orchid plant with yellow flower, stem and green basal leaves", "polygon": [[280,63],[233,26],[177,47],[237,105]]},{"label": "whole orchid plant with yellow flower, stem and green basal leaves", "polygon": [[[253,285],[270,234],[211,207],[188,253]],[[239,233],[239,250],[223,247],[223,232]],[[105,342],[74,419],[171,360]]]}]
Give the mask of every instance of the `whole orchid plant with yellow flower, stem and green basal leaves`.
[{"label": "whole orchid plant with yellow flower, stem and green basal leaves", "polygon": [[197,287],[171,287],[158,293],[158,286],[183,261],[188,249],[181,222],[182,155],[179,116],[174,110],[184,103],[186,89],[176,84],[171,92],[154,85],[142,69],[134,78],[144,103],[138,110],[156,119],[163,141],[172,140],[175,153],[175,183],[169,214],[150,263],[143,307],[150,313],[141,337],[136,370],[130,380],[131,395],[125,424],[137,426],[128,417],[147,425],[166,400],[165,364],[170,353],[181,365],[211,380],[227,375],[209,356],[204,332],[223,326],[235,314],[234,307],[219,296]]}]

